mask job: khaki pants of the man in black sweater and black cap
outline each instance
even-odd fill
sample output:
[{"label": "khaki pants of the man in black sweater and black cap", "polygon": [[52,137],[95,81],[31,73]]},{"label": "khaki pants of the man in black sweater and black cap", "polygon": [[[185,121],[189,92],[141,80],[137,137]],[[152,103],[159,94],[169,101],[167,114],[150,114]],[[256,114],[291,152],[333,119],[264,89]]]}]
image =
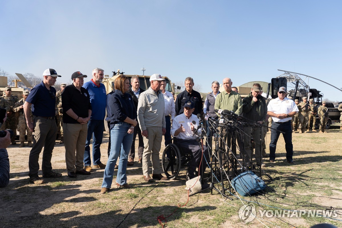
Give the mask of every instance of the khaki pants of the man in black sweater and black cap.
[{"label": "khaki pants of the man in black sweater and black cap", "polygon": [[88,124],[64,123],[63,129],[66,168],[68,172],[83,170]]}]

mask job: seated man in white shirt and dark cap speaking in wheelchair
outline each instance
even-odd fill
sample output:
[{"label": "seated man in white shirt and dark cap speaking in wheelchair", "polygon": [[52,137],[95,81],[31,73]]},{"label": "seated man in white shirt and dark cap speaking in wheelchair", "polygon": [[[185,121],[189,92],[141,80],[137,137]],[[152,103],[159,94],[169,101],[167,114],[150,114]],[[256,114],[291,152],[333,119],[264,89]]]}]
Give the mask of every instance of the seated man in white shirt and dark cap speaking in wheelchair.
[{"label": "seated man in white shirt and dark cap speaking in wheelchair", "polygon": [[[182,139],[177,140],[177,146],[181,147],[183,152],[189,153],[191,155],[191,161],[188,165],[187,175],[189,179],[196,177],[195,171],[197,165],[199,165],[202,157],[202,145],[197,141],[199,139],[198,135],[201,131],[199,129],[195,134],[199,124],[197,116],[193,115],[195,110],[195,103],[192,100],[188,100],[184,105],[184,112],[173,119],[171,135]],[[194,136],[193,136],[194,134]],[[204,155],[208,155],[208,148],[203,145]],[[200,175],[203,178],[203,173],[206,167],[206,161],[203,158],[201,162],[203,169],[200,170]]]}]

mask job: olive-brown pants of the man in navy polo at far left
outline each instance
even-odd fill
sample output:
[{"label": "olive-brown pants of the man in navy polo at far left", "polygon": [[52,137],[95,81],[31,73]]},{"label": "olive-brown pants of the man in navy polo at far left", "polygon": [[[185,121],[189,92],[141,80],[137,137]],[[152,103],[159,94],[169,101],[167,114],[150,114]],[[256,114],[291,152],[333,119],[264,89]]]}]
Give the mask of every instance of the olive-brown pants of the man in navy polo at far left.
[{"label": "olive-brown pants of the man in navy polo at far left", "polygon": [[52,171],[51,157],[55,147],[57,126],[55,118],[45,119],[34,116],[35,133],[33,137],[33,147],[30,151],[28,159],[29,176],[38,176],[39,171],[39,154],[43,150],[42,172],[49,174]]}]

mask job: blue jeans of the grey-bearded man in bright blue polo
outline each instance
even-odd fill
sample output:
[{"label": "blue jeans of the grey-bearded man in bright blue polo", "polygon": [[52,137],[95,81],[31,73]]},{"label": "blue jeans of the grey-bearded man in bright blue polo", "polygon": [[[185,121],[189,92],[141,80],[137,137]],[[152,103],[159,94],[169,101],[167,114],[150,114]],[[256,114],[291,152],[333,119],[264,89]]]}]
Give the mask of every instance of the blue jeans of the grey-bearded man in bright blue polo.
[{"label": "blue jeans of the grey-bearded man in bright blue polo", "polygon": [[90,140],[93,137],[93,165],[98,165],[101,163],[101,151],[100,146],[103,137],[103,120],[89,120],[88,121],[88,134],[86,140],[86,148],[84,149],[84,166],[91,165],[90,157]]}]

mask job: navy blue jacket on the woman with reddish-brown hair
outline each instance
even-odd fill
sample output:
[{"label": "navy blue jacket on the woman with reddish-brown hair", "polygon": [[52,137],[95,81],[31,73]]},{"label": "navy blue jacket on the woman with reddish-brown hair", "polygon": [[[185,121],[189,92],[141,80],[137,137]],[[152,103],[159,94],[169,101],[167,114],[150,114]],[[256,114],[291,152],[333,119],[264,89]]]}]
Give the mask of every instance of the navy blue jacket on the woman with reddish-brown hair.
[{"label": "navy blue jacket on the woman with reddish-brown hair", "polygon": [[108,99],[107,108],[108,116],[110,117],[110,129],[118,122],[124,122],[129,117],[136,119],[136,109],[133,104],[131,95],[128,93],[122,94],[120,90],[115,90]]}]

